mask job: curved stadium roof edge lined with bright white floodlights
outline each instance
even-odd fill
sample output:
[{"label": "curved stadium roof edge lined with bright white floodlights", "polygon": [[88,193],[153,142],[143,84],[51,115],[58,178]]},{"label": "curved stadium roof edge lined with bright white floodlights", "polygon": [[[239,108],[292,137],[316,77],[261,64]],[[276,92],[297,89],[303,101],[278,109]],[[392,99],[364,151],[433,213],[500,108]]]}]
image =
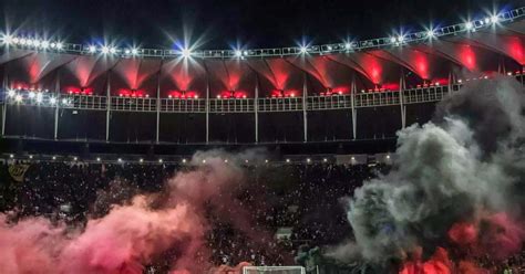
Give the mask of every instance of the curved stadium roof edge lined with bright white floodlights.
[{"label": "curved stadium roof edge lined with bright white floodlights", "polygon": [[[433,30],[413,33],[401,33],[389,38],[378,38],[364,41],[348,41],[344,43],[274,48],[274,49],[234,49],[234,50],[196,50],[188,49],[125,49],[114,45],[76,44],[62,41],[44,41],[38,38],[4,35],[2,43],[7,46],[32,51],[51,51],[70,54],[111,54],[121,57],[177,57],[192,56],[196,59],[226,59],[226,57],[268,57],[298,54],[330,54],[363,50],[401,46],[412,43],[425,43],[431,40],[473,33],[492,27],[512,23],[525,18],[525,7],[501,12],[496,15],[481,18],[459,24],[446,25]],[[523,34],[523,32],[522,32]]]}]

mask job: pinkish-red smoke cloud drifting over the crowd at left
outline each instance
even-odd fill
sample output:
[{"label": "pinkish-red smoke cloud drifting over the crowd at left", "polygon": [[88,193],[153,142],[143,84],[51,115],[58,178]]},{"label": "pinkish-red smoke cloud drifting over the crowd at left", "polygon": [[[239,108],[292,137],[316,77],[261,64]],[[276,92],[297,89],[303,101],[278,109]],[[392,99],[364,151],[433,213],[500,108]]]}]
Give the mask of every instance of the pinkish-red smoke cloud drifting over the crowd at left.
[{"label": "pinkish-red smoke cloud drifting over the crowd at left", "polygon": [[[166,197],[137,196],[127,205],[115,205],[103,218],[82,229],[54,225],[43,218],[10,223],[0,215],[0,270],[2,273],[140,274],[144,265],[167,250],[178,253],[172,274],[214,270],[205,244],[209,223],[204,207],[216,207],[235,228],[249,230],[247,214],[234,209],[231,189],[243,173],[220,159],[178,173],[168,182]],[[261,235],[259,234],[259,238]],[[264,238],[264,236],[262,236]],[[240,273],[241,266],[216,268]],[[214,273],[214,272],[212,272]]]}]

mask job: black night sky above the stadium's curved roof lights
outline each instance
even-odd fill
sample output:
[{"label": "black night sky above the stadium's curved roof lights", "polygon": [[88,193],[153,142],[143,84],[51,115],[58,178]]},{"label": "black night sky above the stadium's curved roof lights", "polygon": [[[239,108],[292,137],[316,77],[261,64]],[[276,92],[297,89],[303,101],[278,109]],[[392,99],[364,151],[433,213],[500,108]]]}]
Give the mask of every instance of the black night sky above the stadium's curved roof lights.
[{"label": "black night sky above the stadium's curved roof lights", "polygon": [[143,48],[173,46],[186,33],[192,43],[200,38],[199,49],[387,36],[521,6],[525,0],[0,0],[3,30]]}]

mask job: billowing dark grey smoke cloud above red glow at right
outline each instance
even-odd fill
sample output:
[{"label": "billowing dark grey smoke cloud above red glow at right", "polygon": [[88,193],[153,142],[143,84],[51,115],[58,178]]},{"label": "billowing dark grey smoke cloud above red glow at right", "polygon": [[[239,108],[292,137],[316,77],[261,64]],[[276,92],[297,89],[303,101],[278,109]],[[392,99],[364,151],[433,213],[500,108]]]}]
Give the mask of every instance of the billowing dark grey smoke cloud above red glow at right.
[{"label": "billowing dark grey smoke cloud above red glow at right", "polygon": [[487,211],[519,219],[525,203],[524,109],[524,89],[516,81],[483,80],[440,103],[433,122],[399,131],[392,171],[348,199],[354,244],[330,255],[403,260],[415,246],[434,252],[446,244],[454,223]]}]

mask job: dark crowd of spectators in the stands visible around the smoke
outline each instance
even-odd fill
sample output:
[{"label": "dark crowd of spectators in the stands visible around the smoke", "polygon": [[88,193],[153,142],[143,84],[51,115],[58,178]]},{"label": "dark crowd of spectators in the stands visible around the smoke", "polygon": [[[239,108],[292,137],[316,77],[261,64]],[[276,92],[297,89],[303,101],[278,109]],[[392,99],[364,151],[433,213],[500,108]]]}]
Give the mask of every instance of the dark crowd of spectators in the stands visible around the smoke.
[{"label": "dark crowd of spectators in the stands visible around the smoke", "polygon": [[[22,181],[12,178],[12,165],[28,167]],[[43,215],[76,225],[87,218],[103,217],[113,203],[162,191],[166,180],[184,168],[182,164],[4,162],[0,166],[0,212],[14,212],[17,218]],[[245,169],[246,182],[236,190],[236,198],[249,212],[251,224],[270,236],[261,249],[230,223],[208,217],[213,229],[206,235],[207,245],[217,265],[243,261],[290,265],[297,263],[301,249],[343,242],[352,234],[344,199],[389,167],[282,164]],[[523,272],[524,262],[522,253],[497,265],[490,261],[480,265],[514,274]]]}]

